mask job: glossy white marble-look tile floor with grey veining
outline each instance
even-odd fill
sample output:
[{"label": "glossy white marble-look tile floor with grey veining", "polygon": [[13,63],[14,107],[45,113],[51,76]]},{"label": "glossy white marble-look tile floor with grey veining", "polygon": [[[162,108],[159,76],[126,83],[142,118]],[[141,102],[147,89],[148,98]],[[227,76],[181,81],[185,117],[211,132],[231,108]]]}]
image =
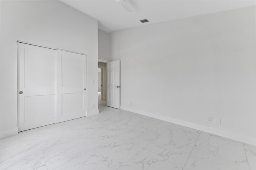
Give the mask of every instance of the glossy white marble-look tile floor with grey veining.
[{"label": "glossy white marble-look tile floor with grey veining", "polygon": [[0,170],[256,170],[256,146],[99,105],[0,140]]}]

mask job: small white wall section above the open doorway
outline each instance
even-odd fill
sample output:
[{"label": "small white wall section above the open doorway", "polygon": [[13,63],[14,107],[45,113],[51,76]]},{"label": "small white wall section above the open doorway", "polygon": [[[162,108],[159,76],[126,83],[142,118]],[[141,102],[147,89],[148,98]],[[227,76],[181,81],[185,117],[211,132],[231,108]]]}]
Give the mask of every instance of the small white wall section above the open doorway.
[{"label": "small white wall section above the open doorway", "polygon": [[109,33],[98,30],[98,58],[109,59]]}]

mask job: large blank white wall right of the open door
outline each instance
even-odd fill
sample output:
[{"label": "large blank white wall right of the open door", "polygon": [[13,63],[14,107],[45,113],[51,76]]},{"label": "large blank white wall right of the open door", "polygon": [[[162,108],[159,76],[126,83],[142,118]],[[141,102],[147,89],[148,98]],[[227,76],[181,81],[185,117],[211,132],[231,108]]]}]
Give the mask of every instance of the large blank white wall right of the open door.
[{"label": "large blank white wall right of the open door", "polygon": [[114,31],[110,59],[121,106],[256,137],[254,7]]}]

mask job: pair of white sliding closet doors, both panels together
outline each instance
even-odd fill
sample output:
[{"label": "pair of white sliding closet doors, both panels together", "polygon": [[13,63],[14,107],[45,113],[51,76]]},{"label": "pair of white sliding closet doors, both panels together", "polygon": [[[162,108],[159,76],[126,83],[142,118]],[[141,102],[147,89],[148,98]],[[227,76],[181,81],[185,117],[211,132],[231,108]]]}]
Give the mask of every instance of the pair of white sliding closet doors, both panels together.
[{"label": "pair of white sliding closet doors, both panels together", "polygon": [[86,55],[18,43],[18,131],[86,116]]}]

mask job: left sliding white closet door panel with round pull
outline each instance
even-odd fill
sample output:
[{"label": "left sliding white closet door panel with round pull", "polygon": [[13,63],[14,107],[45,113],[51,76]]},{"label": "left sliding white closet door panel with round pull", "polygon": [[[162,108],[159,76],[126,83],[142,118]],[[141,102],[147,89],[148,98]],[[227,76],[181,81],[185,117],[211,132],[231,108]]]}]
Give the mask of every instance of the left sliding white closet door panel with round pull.
[{"label": "left sliding white closet door panel with round pull", "polygon": [[56,123],[56,50],[17,45],[18,131]]}]

